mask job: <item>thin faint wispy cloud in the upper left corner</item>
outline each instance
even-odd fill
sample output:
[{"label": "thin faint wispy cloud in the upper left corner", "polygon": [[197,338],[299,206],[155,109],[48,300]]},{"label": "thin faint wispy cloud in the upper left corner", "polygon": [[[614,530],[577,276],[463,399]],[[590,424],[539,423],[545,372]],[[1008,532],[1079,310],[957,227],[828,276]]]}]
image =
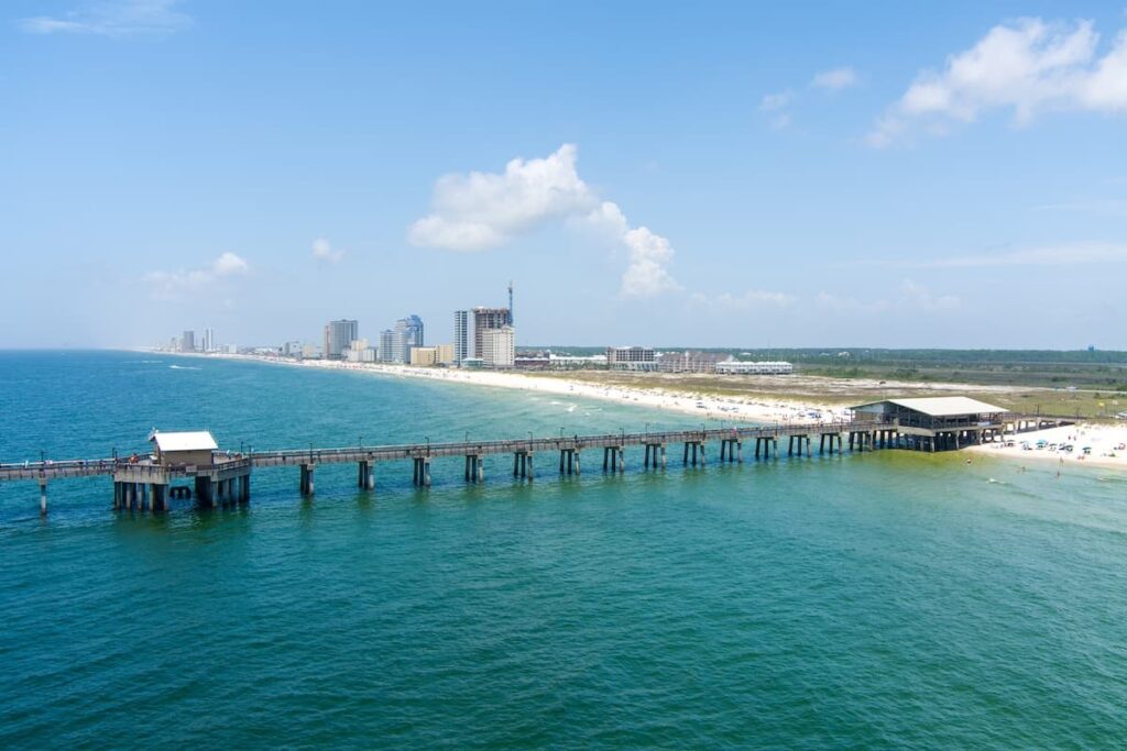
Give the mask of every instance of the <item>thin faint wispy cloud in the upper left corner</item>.
[{"label": "thin faint wispy cloud in the upper left corner", "polygon": [[172,34],[192,26],[192,17],[175,9],[179,0],[100,0],[62,16],[25,18],[28,34],[95,34],[121,37]]}]

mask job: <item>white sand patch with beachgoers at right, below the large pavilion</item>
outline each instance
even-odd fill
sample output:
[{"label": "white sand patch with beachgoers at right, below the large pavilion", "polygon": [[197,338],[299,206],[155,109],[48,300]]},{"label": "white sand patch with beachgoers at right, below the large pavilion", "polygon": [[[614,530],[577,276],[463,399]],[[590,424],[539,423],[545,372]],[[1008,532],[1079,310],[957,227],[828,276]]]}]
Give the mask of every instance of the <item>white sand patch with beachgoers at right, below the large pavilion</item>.
[{"label": "white sand patch with beachgoers at right, below the large pavilion", "polygon": [[[1048,441],[1050,445],[1057,444],[1057,446],[1072,444],[1073,450],[1065,452],[1059,448],[1053,450],[1048,447],[1038,449],[1037,441],[1039,440]],[[1104,426],[1082,422],[1063,428],[1048,428],[1006,436],[1006,442],[1010,441],[1013,442],[1013,446],[983,444],[971,446],[966,450],[1021,462],[1054,462],[1068,466],[1088,465],[1127,470],[1127,424]],[[1030,448],[1023,448],[1023,442],[1028,442]],[[1090,454],[1084,454],[1085,446],[1092,449]]]}]

